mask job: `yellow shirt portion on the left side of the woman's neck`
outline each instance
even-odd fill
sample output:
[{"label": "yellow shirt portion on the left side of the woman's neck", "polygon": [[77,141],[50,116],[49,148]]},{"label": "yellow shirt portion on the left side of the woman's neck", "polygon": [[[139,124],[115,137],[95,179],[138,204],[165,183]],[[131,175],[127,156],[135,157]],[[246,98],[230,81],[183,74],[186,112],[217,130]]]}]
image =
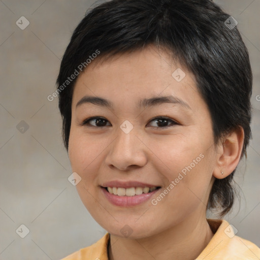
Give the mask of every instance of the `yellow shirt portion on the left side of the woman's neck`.
[{"label": "yellow shirt portion on the left side of the woman's neck", "polygon": [[107,246],[109,243],[110,235],[107,233],[98,242],[92,244],[91,246],[82,248],[61,260],[108,260],[107,256]]}]

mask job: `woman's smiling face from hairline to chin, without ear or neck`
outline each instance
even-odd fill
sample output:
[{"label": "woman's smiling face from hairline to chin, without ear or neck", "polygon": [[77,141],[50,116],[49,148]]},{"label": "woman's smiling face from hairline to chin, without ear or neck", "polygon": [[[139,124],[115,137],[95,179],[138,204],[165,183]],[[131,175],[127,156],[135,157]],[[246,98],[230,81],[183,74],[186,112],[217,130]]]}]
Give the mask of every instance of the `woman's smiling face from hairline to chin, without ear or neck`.
[{"label": "woman's smiling face from hairline to chin, without ear or neck", "polygon": [[205,218],[217,167],[211,117],[166,52],[88,65],[73,93],[69,157],[82,202],[112,235],[144,238]]}]

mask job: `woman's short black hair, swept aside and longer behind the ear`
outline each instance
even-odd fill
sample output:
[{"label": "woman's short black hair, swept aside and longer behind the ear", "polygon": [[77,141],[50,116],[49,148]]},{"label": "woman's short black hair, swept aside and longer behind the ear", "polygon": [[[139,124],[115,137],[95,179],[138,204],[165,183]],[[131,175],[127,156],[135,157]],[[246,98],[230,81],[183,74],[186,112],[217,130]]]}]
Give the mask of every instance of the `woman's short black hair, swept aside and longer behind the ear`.
[{"label": "woman's short black hair, swept aside and longer behind the ear", "polygon": [[[241,158],[246,156],[251,139],[252,71],[235,22],[210,0],[112,0],[88,10],[73,32],[56,82],[67,151],[77,76],[70,82],[68,77],[78,72],[80,64],[81,69],[82,65],[87,68],[86,60],[97,50],[100,59],[152,44],[168,50],[196,77],[211,114],[214,143],[241,126],[245,134]],[[235,171],[215,179],[211,189],[208,208],[220,207],[220,216],[234,204]]]}]

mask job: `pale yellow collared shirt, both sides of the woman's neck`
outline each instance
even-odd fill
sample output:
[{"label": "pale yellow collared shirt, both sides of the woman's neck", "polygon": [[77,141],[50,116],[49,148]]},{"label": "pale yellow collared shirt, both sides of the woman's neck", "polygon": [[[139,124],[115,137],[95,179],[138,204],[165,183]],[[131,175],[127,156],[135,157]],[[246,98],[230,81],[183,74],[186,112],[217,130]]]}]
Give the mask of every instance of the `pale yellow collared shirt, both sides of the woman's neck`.
[{"label": "pale yellow collared shirt, both sides of the woman's neck", "polygon": [[[225,220],[207,219],[213,238],[195,260],[256,260],[260,248],[252,242],[235,236],[234,229]],[[108,260],[107,247],[110,234],[98,242],[76,251],[61,260]]]}]

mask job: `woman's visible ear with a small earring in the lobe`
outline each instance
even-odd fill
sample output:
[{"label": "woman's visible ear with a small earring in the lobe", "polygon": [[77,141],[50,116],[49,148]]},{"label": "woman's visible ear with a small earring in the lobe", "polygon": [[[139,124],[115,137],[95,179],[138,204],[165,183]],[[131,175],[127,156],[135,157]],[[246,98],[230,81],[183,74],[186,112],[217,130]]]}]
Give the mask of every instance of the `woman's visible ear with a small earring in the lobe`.
[{"label": "woman's visible ear with a small earring in the lobe", "polygon": [[241,157],[243,144],[244,129],[241,126],[220,141],[217,147],[216,167],[213,170],[215,178],[223,179],[235,170]]}]

